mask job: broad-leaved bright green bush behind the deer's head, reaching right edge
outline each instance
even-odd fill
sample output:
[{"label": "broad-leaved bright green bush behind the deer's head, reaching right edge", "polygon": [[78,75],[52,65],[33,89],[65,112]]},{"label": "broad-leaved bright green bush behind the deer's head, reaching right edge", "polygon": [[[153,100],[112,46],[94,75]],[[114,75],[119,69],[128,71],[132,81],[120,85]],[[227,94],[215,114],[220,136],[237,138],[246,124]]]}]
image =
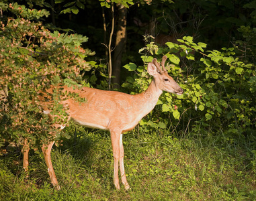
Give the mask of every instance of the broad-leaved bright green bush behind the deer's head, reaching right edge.
[{"label": "broad-leaved bright green bush behind the deer's head, reaching right edge", "polygon": [[[234,141],[238,136],[253,136],[255,65],[239,59],[235,48],[222,48],[222,52],[207,51],[206,54],[206,44],[196,44],[191,37],[177,41],[177,44],[167,42],[167,47],[151,42],[139,50],[146,54],[141,57],[144,66],[153,57],[159,58],[160,62],[165,54],[169,59],[166,66],[169,74],[179,77],[178,83],[185,91],[181,96],[164,93],[152,117],[148,117],[149,121],[143,120],[140,125],[150,131],[158,128],[158,123],[176,130],[182,130],[187,124],[187,128],[195,134],[202,129],[214,129],[224,141]],[[183,68],[180,68],[181,64],[185,64]],[[124,68],[132,72],[137,68],[137,73],[129,76],[122,86],[136,92],[146,90],[148,75],[144,67],[126,64]]]}]

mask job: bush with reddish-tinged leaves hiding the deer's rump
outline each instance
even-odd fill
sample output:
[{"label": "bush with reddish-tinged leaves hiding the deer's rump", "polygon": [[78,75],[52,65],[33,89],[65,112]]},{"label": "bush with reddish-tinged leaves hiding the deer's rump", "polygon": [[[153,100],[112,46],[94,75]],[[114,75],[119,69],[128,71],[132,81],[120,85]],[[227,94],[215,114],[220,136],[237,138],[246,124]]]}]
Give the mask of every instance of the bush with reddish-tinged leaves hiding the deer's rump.
[{"label": "bush with reddish-tinged leaves hiding the deer's rump", "polygon": [[52,123],[67,123],[67,114],[59,104],[61,93],[54,90],[49,94],[50,110],[59,115],[52,122],[42,115],[40,93],[50,85],[77,86],[82,80],[80,72],[91,68],[84,59],[93,52],[81,48],[86,37],[51,33],[42,23],[30,21],[32,14],[28,19],[19,16],[17,8],[22,16],[42,16],[43,12],[9,4],[9,11],[17,18],[0,21],[0,86],[5,90],[0,98],[0,135],[1,143],[26,137],[34,147],[52,137],[50,133],[56,131]]}]

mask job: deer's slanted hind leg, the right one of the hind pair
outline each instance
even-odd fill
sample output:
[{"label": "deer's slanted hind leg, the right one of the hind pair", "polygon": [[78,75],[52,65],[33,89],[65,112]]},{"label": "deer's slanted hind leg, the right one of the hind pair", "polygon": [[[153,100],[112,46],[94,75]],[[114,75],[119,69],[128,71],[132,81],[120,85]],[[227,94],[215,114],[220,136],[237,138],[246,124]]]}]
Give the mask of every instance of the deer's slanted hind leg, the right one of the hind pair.
[{"label": "deer's slanted hind leg, the right one of the hind pair", "polygon": [[60,186],[58,185],[58,181],[55,175],[55,172],[52,167],[52,160],[50,158],[50,151],[52,151],[52,145],[54,144],[54,141],[48,143],[47,145],[42,145],[42,152],[44,153],[44,159],[46,161],[46,165],[48,167],[48,174],[50,176],[50,180],[52,182],[52,185],[56,190],[60,190]]}]

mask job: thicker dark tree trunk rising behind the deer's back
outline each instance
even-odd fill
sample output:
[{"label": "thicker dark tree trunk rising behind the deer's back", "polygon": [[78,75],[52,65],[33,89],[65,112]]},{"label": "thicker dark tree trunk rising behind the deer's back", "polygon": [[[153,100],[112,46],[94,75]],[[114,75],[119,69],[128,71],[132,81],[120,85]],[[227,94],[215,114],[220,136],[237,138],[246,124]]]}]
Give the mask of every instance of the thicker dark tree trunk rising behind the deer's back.
[{"label": "thicker dark tree trunk rising behind the deer's back", "polygon": [[118,25],[116,31],[116,46],[114,49],[114,58],[113,58],[113,73],[114,76],[113,84],[114,88],[120,87],[120,73],[122,67],[122,53],[124,51],[125,42],[126,42],[126,13],[127,9],[122,4],[118,4]]}]

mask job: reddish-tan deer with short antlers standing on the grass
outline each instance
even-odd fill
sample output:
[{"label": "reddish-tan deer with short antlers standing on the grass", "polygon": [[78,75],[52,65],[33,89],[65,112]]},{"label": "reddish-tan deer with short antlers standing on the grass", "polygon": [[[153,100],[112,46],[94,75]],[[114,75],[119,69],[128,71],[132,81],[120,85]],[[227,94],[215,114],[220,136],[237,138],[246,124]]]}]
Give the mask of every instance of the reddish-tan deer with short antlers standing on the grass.
[{"label": "reddish-tan deer with short antlers standing on the grass", "polygon": [[[79,94],[81,98],[87,100],[83,104],[77,102],[74,98],[67,98],[62,101],[62,105],[68,105],[67,113],[70,119],[85,127],[110,131],[114,156],[114,186],[117,190],[120,190],[118,178],[119,170],[125,190],[130,189],[124,170],[123,133],[134,129],[139,121],[154,109],[163,91],[178,95],[184,92],[179,84],[167,73],[165,68],[166,60],[167,56],[163,56],[161,65],[157,62],[156,58],[148,63],[147,72],[153,76],[153,80],[147,90],[140,94],[126,94],[118,91],[99,90],[85,86],[79,89],[63,86],[65,92],[74,92]],[[45,114],[50,115],[50,111],[48,111],[47,107],[43,109]],[[65,125],[60,125],[60,129],[64,127]],[[56,190],[60,190],[50,158],[53,144],[54,141],[50,141],[42,145],[42,152],[44,153],[44,159],[48,167],[48,174],[52,186],[54,186]],[[24,151],[24,169],[28,170],[27,166],[28,147],[26,151]]]}]

